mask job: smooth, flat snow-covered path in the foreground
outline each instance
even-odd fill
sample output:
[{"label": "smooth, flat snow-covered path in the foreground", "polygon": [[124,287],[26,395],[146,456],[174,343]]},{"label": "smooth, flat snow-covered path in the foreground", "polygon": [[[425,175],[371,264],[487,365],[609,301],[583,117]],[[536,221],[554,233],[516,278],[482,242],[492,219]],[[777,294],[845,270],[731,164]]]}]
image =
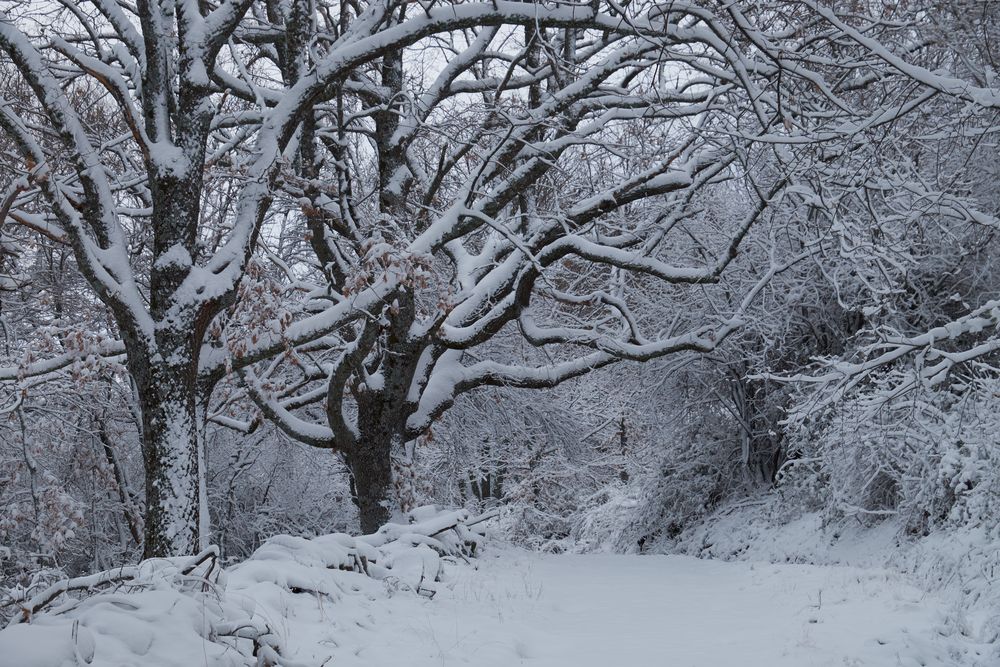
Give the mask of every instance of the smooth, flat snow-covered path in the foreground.
[{"label": "smooth, flat snow-covered path in the foreground", "polygon": [[955,610],[879,571],[494,551],[372,605],[336,665],[987,665]]}]

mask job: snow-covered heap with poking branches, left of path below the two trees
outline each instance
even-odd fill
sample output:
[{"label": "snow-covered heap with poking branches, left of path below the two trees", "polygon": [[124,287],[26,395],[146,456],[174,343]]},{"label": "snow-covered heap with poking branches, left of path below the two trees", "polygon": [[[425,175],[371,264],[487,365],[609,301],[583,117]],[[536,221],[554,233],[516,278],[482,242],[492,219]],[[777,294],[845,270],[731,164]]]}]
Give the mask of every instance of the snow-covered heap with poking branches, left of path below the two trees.
[{"label": "snow-covered heap with poking branches, left of path below the two trees", "polygon": [[279,535],[222,569],[212,547],[48,588],[7,592],[4,664],[320,665],[397,591],[433,597],[447,559],[474,556],[487,517],[428,506],[377,533]]}]

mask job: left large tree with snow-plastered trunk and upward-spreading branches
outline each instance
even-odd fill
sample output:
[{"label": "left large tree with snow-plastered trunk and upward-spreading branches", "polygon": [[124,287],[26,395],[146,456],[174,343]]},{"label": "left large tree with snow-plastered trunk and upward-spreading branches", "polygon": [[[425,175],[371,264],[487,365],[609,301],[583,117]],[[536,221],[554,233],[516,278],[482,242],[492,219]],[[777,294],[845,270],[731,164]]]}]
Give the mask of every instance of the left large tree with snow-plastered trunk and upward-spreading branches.
[{"label": "left large tree with snow-plastered trunk and upward-spreading branches", "polygon": [[[310,9],[303,14],[300,6]],[[286,16],[277,3],[252,0],[134,7],[94,0],[9,8],[0,16],[0,50],[30,87],[45,123],[25,122],[5,102],[0,125],[24,160],[27,194],[46,202],[43,230],[70,244],[114,317],[121,342],[105,352],[125,355],[136,384],[147,556],[193,550],[199,526],[207,539],[199,396],[210,394],[226,359],[203,347],[213,320],[234,301],[274,183],[296,153],[303,114],[365,63],[434,34],[526,21],[617,25],[590,6],[463,4],[429,8],[397,25],[386,23],[396,11],[392,3],[351,7],[342,10],[347,24],[335,38],[316,36],[323,55],[277,90],[261,85],[270,78],[267,67],[253,65],[274,60],[286,37],[293,42],[295,30],[286,27],[296,16],[312,16],[311,5],[294,4]],[[652,20],[648,29],[662,22]],[[56,36],[48,38],[43,25],[57,26]],[[115,109],[118,136],[102,141],[85,122],[74,96],[87,86]],[[231,107],[230,98],[241,101]],[[228,153],[244,143],[252,148],[238,158]],[[208,174],[220,164],[239,186],[231,214],[212,228],[202,209]],[[321,337],[357,312],[331,309],[246,356],[266,357],[286,339]]]}]

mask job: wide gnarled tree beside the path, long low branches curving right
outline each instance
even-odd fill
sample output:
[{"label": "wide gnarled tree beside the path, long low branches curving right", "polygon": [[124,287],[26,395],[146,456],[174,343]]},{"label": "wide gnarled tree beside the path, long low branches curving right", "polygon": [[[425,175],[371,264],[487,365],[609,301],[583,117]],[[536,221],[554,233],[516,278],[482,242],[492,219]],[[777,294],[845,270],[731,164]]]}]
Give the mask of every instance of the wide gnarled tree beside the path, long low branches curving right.
[{"label": "wide gnarled tree beside the path, long low branches curving right", "polygon": [[[387,30],[424,13],[395,4]],[[815,18],[798,3],[608,3],[572,25],[481,23],[383,52],[304,123],[282,184],[322,272],[301,308],[343,326],[307,347],[286,336],[285,358],[242,372],[286,433],[344,455],[363,529],[406,502],[394,461],[412,464],[458,396],[704,353],[742,325],[786,263],[765,253],[728,312],[679,327],[646,295],[717,283],[751,228],[808,199],[823,151],[924,92],[856,111],[877,59],[845,57]],[[702,214],[713,193],[746,207]]]}]

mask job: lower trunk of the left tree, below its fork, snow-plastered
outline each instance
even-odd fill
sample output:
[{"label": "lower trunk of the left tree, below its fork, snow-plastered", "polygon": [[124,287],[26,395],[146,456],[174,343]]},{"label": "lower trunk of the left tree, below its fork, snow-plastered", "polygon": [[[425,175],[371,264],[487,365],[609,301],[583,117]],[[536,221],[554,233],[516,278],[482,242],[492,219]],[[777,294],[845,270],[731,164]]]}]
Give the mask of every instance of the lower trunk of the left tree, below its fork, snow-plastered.
[{"label": "lower trunk of the left tree, below its fork, snow-plastered", "polygon": [[193,554],[199,547],[199,452],[190,372],[152,368],[139,383],[146,464],[143,556]]}]

